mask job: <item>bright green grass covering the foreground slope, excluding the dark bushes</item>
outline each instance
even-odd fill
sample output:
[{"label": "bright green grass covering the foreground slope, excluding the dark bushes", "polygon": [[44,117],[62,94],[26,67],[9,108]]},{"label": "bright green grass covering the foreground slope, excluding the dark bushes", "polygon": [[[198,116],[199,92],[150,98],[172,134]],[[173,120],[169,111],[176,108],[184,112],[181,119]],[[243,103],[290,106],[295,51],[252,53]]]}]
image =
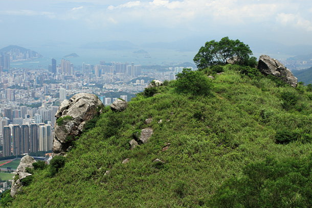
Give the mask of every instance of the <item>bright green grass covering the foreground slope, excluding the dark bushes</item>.
[{"label": "bright green grass covering the foreground slope, excluding the dark bushes", "polygon": [[[310,143],[278,145],[275,134],[280,129],[311,133],[312,93],[226,68],[213,80],[211,97],[177,95],[170,82],[161,95],[138,95],[124,112],[106,108],[96,127],[77,141],[65,167],[54,178],[37,171],[11,207],[207,206],[222,181],[240,176],[250,162],[267,155],[307,155]],[[282,108],[284,91],[299,97],[301,112]],[[147,118],[151,124],[144,123]],[[150,141],[129,150],[132,133],[146,127],[154,130]],[[165,143],[171,145],[162,152]],[[125,158],[130,162],[122,164]],[[153,164],[156,158],[165,164]]]}]

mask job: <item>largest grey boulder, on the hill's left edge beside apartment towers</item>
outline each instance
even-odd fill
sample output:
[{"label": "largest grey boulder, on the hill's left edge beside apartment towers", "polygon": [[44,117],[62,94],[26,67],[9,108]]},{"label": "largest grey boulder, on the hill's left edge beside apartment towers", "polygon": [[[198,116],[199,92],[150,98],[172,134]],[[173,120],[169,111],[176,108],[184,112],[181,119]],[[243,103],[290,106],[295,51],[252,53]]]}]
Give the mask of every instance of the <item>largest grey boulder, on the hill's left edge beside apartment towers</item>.
[{"label": "largest grey boulder, on the hill's left edge beside apartment towers", "polygon": [[100,114],[103,107],[93,94],[80,93],[64,100],[55,114],[53,156],[64,155],[76,136],[82,133],[85,122]]}]

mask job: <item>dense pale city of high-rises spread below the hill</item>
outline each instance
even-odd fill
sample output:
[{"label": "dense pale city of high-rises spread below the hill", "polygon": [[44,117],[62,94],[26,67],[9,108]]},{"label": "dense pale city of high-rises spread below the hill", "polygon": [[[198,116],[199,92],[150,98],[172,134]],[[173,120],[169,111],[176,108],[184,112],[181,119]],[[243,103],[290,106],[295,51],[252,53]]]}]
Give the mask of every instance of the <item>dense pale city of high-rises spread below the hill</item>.
[{"label": "dense pale city of high-rises spread below the hill", "polygon": [[[0,52],[2,159],[12,159],[13,155],[17,158],[23,154],[48,158],[53,146],[54,115],[63,100],[77,93],[91,93],[97,95],[104,105],[110,105],[118,98],[129,101],[153,79],[173,80],[184,68],[168,67],[157,71],[133,62],[105,61],[99,61],[98,65],[82,63],[76,66],[69,60],[54,58],[48,68],[10,67],[12,62],[33,60],[40,56],[31,50]],[[13,171],[11,167],[2,170]],[[9,185],[10,181],[3,180],[1,191]]]}]

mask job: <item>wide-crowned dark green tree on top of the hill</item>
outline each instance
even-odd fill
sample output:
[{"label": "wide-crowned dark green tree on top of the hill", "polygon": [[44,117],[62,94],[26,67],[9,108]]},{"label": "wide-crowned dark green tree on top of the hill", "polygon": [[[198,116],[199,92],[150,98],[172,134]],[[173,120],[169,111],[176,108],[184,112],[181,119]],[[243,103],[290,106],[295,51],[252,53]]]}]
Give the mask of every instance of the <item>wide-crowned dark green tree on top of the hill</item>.
[{"label": "wide-crowned dark green tree on top of the hill", "polygon": [[243,64],[252,55],[247,44],[240,40],[231,40],[229,37],[222,38],[219,42],[211,40],[200,47],[193,61],[198,68],[207,68],[212,65],[225,64],[227,59],[236,57],[238,64]]}]

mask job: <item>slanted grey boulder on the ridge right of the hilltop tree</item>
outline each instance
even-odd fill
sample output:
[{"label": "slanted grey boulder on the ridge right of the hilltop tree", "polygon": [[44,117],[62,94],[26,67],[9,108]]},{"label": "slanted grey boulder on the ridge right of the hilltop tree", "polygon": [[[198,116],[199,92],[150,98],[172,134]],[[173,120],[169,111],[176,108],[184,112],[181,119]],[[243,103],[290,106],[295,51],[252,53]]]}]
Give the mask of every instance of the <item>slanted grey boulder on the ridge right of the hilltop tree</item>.
[{"label": "slanted grey boulder on the ridge right of the hilltop tree", "polygon": [[287,84],[297,87],[298,79],[278,60],[267,55],[261,55],[258,62],[258,70],[264,75],[274,75]]}]

